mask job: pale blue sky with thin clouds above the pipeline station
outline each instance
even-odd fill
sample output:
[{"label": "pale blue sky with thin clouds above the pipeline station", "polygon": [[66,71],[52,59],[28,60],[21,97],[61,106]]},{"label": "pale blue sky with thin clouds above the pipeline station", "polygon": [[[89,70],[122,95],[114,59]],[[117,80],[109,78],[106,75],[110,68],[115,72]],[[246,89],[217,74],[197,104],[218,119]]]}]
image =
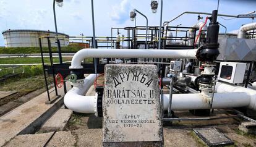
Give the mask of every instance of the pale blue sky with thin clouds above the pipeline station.
[{"label": "pale blue sky with thin clouds above the pipeline station", "polygon": [[[159,1],[159,0],[158,0]],[[160,1],[159,1],[160,2]],[[94,0],[96,36],[111,36],[111,27],[134,27],[129,12],[137,9],[148,17],[148,25],[160,25],[160,8],[153,14],[151,0]],[[163,0],[163,22],[185,11],[210,12],[217,8],[218,0]],[[256,11],[256,0],[220,0],[219,14],[247,14]],[[204,18],[205,15],[202,15]],[[58,31],[70,36],[83,33],[92,36],[92,12],[90,0],[64,0],[56,6]],[[218,17],[218,22],[229,31],[238,30],[252,19]],[[197,23],[197,15],[186,14],[170,23],[191,27]],[[145,25],[145,19],[137,15],[137,25]],[[0,0],[0,31],[7,29],[35,29],[54,31],[53,0]],[[220,28],[224,32],[224,28]],[[122,33],[122,32],[121,32]],[[115,36],[115,35],[114,35]],[[4,46],[2,34],[0,46]]]}]

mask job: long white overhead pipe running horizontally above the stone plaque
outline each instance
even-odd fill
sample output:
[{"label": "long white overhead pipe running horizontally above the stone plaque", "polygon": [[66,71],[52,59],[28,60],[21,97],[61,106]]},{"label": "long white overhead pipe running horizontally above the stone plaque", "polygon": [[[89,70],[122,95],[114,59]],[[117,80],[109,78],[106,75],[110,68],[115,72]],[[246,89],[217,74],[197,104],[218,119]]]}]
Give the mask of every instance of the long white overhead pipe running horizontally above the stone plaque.
[{"label": "long white overhead pipe running horizontally above the stone plaque", "polygon": [[81,49],[74,54],[69,69],[82,69],[81,62],[88,57],[196,59],[196,52],[197,49]]}]

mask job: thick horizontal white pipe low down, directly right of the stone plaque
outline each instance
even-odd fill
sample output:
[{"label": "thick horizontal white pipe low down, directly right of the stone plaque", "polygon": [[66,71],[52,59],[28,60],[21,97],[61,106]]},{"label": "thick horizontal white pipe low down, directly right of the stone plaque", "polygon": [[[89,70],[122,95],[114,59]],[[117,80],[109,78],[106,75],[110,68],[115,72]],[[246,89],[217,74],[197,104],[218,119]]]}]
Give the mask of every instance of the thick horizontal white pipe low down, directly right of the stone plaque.
[{"label": "thick horizontal white pipe low down, directly right of the stone plaque", "polygon": [[[250,96],[246,92],[215,93],[213,109],[249,106]],[[173,94],[172,110],[210,109],[211,98],[201,93]],[[168,110],[169,94],[164,94],[164,110]],[[256,107],[254,107],[256,110]]]}]

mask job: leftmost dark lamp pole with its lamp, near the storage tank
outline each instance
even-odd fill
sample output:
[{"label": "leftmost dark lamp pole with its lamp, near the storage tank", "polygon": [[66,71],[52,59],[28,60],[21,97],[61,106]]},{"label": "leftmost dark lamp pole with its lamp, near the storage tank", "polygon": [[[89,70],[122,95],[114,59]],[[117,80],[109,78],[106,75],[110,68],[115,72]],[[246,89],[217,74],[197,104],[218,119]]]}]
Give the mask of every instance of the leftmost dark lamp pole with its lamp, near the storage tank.
[{"label": "leftmost dark lamp pole with its lamp, near the storage tank", "polygon": [[58,54],[59,54],[59,64],[62,64],[61,46],[60,46],[59,38],[58,38],[58,29],[57,29],[57,21],[56,21],[56,13],[55,13],[55,1],[57,2],[59,7],[62,7],[63,0],[53,0],[53,15],[54,15],[55,33],[56,33],[56,38],[57,38],[57,48],[58,48]]}]

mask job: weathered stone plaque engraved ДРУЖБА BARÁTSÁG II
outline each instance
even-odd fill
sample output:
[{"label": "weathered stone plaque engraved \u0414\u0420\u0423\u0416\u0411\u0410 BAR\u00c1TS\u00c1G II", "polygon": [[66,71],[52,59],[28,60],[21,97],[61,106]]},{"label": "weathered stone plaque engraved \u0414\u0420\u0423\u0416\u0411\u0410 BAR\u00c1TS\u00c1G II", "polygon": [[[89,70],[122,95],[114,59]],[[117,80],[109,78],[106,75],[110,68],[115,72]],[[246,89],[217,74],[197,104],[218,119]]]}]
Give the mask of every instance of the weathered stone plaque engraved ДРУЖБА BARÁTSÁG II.
[{"label": "weathered stone plaque engraved \u0414\u0420\u0423\u0416\u0411\u0410 BAR\u00c1TS\u00c1G II", "polygon": [[163,146],[155,65],[105,65],[103,146]]}]

